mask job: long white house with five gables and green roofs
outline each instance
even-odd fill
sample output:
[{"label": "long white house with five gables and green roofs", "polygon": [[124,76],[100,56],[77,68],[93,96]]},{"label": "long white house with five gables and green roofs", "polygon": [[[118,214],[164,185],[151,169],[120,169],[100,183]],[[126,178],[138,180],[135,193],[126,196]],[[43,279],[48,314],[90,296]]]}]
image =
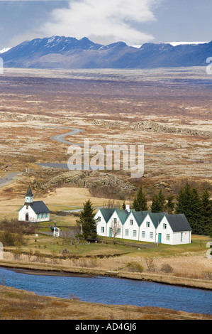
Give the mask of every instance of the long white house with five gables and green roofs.
[{"label": "long white house with five gables and green roofs", "polygon": [[99,237],[117,237],[141,242],[163,244],[191,243],[191,227],[185,215],[169,215],[167,212],[99,209],[94,217]]}]

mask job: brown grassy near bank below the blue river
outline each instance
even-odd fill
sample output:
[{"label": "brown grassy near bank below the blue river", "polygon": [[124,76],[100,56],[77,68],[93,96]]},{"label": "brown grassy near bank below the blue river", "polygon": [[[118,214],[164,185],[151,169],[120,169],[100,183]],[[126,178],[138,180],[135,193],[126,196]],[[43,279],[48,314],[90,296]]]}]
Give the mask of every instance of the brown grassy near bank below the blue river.
[{"label": "brown grassy near bank below the blue river", "polygon": [[212,320],[208,314],[38,296],[2,285],[0,296],[0,320]]}]

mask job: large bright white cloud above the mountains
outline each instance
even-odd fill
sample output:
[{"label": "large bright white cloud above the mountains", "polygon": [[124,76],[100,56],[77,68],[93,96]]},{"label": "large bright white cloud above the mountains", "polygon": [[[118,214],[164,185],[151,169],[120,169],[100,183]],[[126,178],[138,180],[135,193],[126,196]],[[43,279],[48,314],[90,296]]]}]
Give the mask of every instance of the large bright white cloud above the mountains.
[{"label": "large bright white cloud above the mountains", "polygon": [[155,21],[153,9],[163,0],[72,0],[68,8],[54,9],[39,32],[43,36],[84,36],[96,43],[125,41],[128,45],[152,41],[138,28]]}]

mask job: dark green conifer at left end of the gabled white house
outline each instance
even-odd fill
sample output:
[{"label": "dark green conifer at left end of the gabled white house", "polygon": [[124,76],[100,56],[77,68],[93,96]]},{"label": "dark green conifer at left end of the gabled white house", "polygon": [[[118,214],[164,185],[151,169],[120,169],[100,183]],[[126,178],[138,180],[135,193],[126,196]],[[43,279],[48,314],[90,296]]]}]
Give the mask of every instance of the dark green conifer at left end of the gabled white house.
[{"label": "dark green conifer at left end of the gabled white house", "polygon": [[94,208],[90,200],[84,203],[84,208],[79,215],[79,220],[77,220],[78,225],[82,225],[82,236],[84,239],[96,239],[96,223],[97,220],[94,219],[95,213]]}]

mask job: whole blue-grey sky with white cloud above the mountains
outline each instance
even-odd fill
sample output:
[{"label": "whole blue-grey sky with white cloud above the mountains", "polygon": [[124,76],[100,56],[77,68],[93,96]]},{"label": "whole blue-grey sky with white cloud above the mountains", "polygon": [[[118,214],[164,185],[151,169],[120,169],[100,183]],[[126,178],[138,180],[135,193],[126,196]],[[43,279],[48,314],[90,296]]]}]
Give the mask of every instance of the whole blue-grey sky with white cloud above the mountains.
[{"label": "whole blue-grey sky with white cloud above the mountains", "polygon": [[123,41],[212,40],[211,0],[0,0],[0,50],[50,36]]}]

